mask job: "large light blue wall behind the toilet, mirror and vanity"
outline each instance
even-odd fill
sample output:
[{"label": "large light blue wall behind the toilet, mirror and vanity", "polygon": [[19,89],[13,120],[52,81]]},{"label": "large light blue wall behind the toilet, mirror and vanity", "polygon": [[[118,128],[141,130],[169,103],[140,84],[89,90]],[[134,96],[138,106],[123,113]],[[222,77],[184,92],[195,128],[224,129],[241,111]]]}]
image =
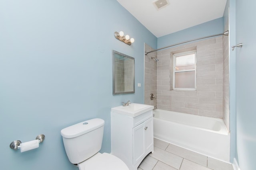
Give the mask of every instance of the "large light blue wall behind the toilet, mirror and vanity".
[{"label": "large light blue wall behind the toilet, mirror and vanity", "polygon": [[[135,42],[114,38],[124,31]],[[60,130],[99,117],[105,120],[101,152],[110,152],[110,108],[144,103],[144,42],[157,38],[116,0],[0,1],[0,169],[76,170]],[[135,94],[112,96],[112,49],[135,58]],[[34,140],[20,153],[14,140]]]}]

